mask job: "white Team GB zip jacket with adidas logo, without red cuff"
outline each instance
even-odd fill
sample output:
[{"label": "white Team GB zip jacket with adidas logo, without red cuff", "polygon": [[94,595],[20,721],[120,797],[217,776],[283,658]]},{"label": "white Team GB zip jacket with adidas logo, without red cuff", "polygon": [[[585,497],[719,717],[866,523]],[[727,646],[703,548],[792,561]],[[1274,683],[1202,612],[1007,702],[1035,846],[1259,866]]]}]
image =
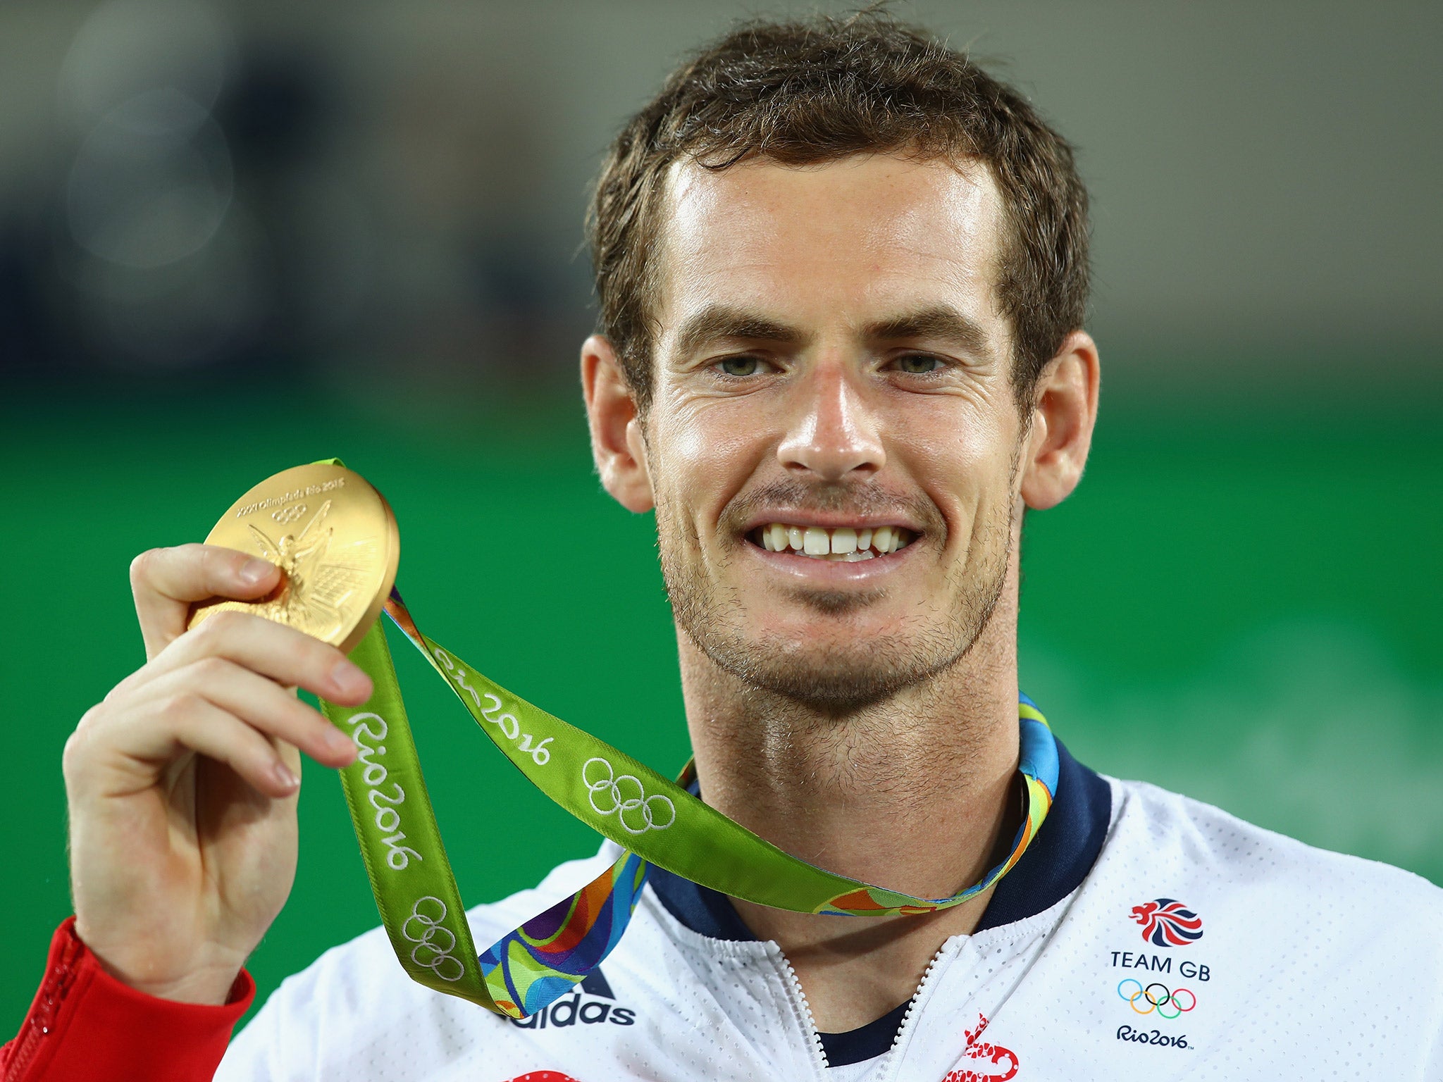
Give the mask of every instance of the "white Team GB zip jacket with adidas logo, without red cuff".
[{"label": "white Team GB zip jacket with adidas logo, without red cuff", "polygon": [[[1033,873],[1019,874],[1019,863],[1003,880],[1016,877],[1012,896],[1000,884],[988,913],[1026,910],[1023,889],[1046,907],[984,918],[980,931],[948,939],[890,1049],[873,1059],[828,1069],[776,945],[693,931],[658,883],[600,977],[544,1020],[518,1024],[413,984],[375,929],[289,978],[216,1079],[1443,1079],[1443,890],[1152,785],[1105,779],[1102,788],[1063,757],[1043,827],[1051,848],[1039,834],[1023,858]],[[1089,812],[1078,811],[1084,776],[1102,793]],[[1063,883],[1068,893],[1051,900],[1036,873],[1076,866],[1078,853],[1081,883]],[[476,942],[576,890],[615,856],[608,843],[534,890],[470,910]],[[1201,938],[1167,946],[1143,938],[1166,942],[1166,926],[1144,920],[1147,903],[1169,900],[1183,905],[1165,910],[1189,915],[1173,926],[1201,920]]]}]

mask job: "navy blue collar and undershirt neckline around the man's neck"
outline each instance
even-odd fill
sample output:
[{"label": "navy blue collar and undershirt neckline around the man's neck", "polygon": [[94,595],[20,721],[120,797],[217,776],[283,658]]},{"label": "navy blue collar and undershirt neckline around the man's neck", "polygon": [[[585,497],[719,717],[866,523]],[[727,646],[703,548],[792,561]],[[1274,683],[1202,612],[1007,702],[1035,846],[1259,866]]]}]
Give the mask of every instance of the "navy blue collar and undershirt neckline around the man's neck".
[{"label": "navy blue collar and undershirt neckline around the man's neck", "polygon": [[[1058,740],[1058,792],[1052,809],[1022,860],[997,883],[975,931],[1035,916],[1076,890],[1102,851],[1111,818],[1111,786],[1068,755]],[[756,939],[726,894],[658,867],[651,868],[648,881],[667,912],[693,932],[711,939]],[[861,1029],[823,1033],[827,1062],[835,1068],[880,1056],[892,1047],[905,1013],[903,1003]]]}]

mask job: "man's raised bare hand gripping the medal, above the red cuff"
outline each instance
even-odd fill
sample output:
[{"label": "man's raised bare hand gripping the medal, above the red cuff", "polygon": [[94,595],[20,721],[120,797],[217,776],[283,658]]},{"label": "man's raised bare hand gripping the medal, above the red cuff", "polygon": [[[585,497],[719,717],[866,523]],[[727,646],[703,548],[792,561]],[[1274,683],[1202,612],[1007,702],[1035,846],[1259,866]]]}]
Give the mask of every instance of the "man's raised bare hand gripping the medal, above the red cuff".
[{"label": "man's raised bare hand gripping the medal, above the red cuff", "polygon": [[355,757],[294,695],[364,703],[371,681],[341,651],[238,612],[186,630],[192,602],[254,600],[278,577],[211,545],[137,557],[147,664],[65,744],[75,931],[152,995],[225,1001],[296,877],[300,752],[335,767]]}]

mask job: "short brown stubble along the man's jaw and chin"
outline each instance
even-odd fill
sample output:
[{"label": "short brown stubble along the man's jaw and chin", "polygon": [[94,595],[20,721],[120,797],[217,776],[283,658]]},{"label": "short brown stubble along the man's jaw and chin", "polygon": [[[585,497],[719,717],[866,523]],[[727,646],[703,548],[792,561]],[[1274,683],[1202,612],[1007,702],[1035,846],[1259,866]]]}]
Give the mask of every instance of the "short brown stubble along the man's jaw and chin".
[{"label": "short brown stubble along the man's jaw and chin", "polygon": [[[1014,472],[1016,462],[1009,473]],[[1009,492],[1012,480],[1009,476]],[[867,511],[869,501],[859,499],[856,492],[811,488],[807,493],[811,506]],[[747,506],[766,495],[776,495],[776,486],[723,514],[720,534],[733,538],[734,550],[747,542],[736,529],[726,529],[726,522],[743,518]],[[896,501],[889,506],[896,508]],[[921,505],[913,511],[922,511]],[[921,518],[925,528],[918,544],[945,545],[945,525],[937,508],[928,502]],[[1007,506],[994,508],[974,525],[968,560],[948,574],[955,600],[948,612],[934,615],[939,619],[919,616],[912,622],[915,626],[902,633],[818,651],[807,642],[746,629],[737,597],[706,573],[696,529],[672,514],[670,503],[658,502],[657,506],[662,579],[677,625],[687,638],[745,687],[831,717],[857,713],[924,685],[965,658],[991,622],[1007,587],[1013,535]],[[724,564],[739,555],[740,551],[727,553]],[[818,616],[838,617],[885,597],[886,590],[879,587],[870,591],[797,590],[791,600],[811,607]]]}]

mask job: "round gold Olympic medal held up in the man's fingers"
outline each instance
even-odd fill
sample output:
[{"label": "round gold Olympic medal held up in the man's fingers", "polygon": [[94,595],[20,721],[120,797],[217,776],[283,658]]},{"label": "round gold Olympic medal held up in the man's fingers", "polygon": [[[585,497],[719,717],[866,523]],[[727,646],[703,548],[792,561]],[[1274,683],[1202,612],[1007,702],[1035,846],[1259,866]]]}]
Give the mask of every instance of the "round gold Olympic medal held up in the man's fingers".
[{"label": "round gold Olympic medal held up in the man's fingers", "polygon": [[205,542],[270,560],[283,574],[258,602],[198,604],[192,628],[235,609],[343,651],[381,615],[401,558],[391,505],[359,473],[329,463],[267,478],[231,505]]}]

